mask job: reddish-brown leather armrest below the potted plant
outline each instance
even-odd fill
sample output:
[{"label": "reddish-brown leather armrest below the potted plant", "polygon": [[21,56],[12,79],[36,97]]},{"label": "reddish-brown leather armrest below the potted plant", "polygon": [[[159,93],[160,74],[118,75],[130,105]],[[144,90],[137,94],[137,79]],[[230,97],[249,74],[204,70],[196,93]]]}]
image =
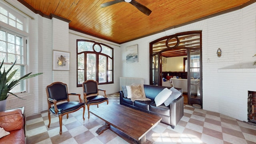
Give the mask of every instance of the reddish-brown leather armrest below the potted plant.
[{"label": "reddish-brown leather armrest below the potted plant", "polygon": [[23,116],[20,109],[0,112],[0,127],[10,132],[23,128]]}]

